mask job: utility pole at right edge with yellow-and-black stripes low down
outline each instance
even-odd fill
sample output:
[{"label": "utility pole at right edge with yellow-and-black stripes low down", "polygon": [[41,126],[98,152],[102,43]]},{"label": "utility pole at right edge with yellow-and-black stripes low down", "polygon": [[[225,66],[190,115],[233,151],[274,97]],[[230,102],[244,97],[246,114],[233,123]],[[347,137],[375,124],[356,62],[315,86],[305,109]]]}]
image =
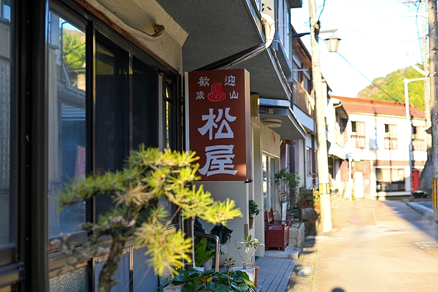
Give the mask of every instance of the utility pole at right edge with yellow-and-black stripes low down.
[{"label": "utility pole at right edge with yellow-and-black stripes low down", "polygon": [[[438,27],[437,0],[429,3],[429,75],[432,133],[432,201],[434,219],[438,221]],[[436,146],[435,146],[436,145]]]}]

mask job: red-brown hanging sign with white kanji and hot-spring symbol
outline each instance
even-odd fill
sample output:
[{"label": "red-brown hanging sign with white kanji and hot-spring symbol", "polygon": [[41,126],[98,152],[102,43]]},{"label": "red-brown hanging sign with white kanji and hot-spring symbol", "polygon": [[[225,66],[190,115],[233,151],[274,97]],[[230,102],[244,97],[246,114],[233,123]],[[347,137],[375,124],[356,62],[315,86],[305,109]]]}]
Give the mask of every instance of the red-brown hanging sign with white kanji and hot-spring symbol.
[{"label": "red-brown hanging sign with white kanji and hot-spring symbol", "polygon": [[196,151],[202,181],[251,179],[249,73],[185,73],[186,148]]}]

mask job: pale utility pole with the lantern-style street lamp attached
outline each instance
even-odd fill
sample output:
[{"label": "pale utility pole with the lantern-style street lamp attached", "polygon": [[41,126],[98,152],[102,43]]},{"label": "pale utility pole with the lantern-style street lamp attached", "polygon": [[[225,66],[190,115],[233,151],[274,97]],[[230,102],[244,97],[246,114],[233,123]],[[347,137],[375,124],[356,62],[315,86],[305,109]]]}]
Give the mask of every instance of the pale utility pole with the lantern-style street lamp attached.
[{"label": "pale utility pole with the lantern-style street lamp attached", "polygon": [[316,118],[316,159],[318,160],[319,198],[321,203],[321,229],[323,233],[332,228],[331,201],[329,181],[329,161],[327,157],[326,121],[324,119],[324,98],[322,94],[321,67],[319,62],[319,46],[316,38],[319,32],[319,21],[316,18],[315,0],[309,0],[310,39],[312,48],[312,80],[315,95]]}]

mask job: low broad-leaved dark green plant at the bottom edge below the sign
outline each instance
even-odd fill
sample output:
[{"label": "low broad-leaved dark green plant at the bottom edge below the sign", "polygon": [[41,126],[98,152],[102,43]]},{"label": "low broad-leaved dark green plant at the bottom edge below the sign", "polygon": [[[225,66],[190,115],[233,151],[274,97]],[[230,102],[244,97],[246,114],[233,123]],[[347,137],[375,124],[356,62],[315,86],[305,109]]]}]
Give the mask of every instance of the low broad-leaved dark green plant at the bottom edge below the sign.
[{"label": "low broad-leaved dark green plant at the bottom edge below the sign", "polygon": [[190,268],[175,276],[172,284],[183,284],[182,292],[256,292],[256,287],[245,272],[232,270],[219,273]]}]

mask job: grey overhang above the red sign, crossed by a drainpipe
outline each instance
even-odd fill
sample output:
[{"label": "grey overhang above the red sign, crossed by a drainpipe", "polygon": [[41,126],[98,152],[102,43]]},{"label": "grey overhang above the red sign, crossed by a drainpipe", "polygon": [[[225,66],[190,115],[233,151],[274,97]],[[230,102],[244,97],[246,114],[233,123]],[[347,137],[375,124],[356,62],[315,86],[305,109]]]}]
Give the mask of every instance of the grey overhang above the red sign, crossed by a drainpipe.
[{"label": "grey overhang above the red sign, crossed by a drainpipe", "polygon": [[[183,44],[184,71],[194,71],[265,41],[255,1],[158,3],[188,33]],[[290,99],[292,91],[273,48],[233,68],[245,68],[250,73],[252,93],[262,98]]]}]

